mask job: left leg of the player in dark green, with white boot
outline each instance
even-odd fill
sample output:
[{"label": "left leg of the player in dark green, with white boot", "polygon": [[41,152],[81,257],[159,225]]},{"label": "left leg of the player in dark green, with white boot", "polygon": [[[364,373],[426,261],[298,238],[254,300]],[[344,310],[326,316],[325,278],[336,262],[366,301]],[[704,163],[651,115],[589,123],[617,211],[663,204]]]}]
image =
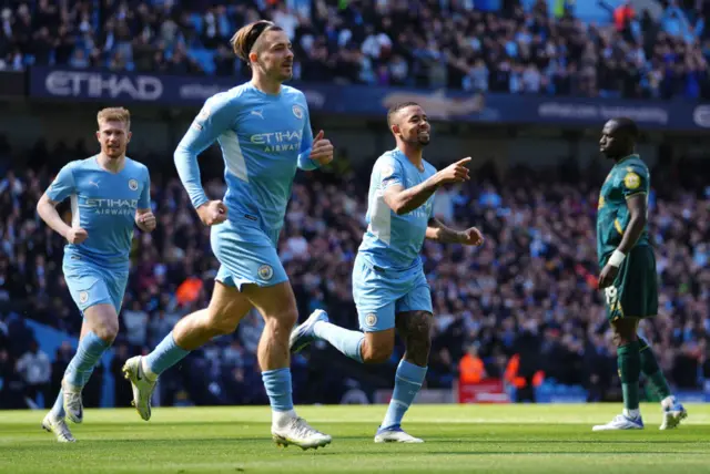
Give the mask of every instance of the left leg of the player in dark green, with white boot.
[{"label": "left leg of the player in dark green, with white boot", "polygon": [[607,424],[594,426],[592,431],[643,429],[643,420],[639,410],[641,358],[637,337],[638,323],[639,320],[637,318],[618,319],[611,322],[615,342],[617,343],[619,375],[623,392],[623,413]]}]

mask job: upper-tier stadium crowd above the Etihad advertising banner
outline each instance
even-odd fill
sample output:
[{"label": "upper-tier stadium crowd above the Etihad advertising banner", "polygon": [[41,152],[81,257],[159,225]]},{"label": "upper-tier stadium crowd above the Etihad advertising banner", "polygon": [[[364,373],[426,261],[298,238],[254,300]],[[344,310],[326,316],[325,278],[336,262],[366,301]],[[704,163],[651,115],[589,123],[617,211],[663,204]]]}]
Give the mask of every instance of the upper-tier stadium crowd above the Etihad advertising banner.
[{"label": "upper-tier stadium crowd above the Etihad advertising banner", "polygon": [[[488,3],[500,6],[486,11]],[[710,97],[709,2],[661,1],[653,18],[602,0],[604,24],[564,3],[549,11],[547,0],[13,0],[0,3],[0,70],[244,75],[229,40],[239,25],[268,18],[292,39],[303,81]]]}]

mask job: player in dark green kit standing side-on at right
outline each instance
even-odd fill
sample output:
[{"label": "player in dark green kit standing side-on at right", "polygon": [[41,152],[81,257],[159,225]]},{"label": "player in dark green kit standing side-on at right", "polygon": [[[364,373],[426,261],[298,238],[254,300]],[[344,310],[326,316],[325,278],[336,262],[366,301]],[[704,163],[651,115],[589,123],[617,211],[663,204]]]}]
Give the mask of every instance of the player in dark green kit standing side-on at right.
[{"label": "player in dark green kit standing side-on at right", "polygon": [[607,122],[599,148],[613,159],[599,196],[597,212],[597,253],[601,274],[599,288],[606,296],[607,317],[617,343],[617,360],[623,393],[623,413],[594,431],[641,430],[639,374],[661,398],[663,421],[669,430],[688,416],[671,394],[653,351],[637,334],[639,321],[658,313],[656,257],[648,236],[648,192],[650,174],[636,154],[639,130],[626,117]]}]

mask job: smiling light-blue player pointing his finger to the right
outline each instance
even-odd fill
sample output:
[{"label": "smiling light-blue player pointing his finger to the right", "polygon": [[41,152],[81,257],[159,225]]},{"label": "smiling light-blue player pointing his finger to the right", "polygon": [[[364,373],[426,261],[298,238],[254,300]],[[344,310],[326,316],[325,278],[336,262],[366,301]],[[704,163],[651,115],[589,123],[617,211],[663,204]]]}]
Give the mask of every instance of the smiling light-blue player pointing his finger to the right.
[{"label": "smiling light-blue player pointing his finger to the right", "polygon": [[419,251],[425,238],[480,245],[483,237],[474,227],[453,230],[432,215],[439,186],[469,179],[466,165],[470,157],[438,173],[424,161],[430,125],[414,102],[390,109],[387,124],[397,146],[382,155],[373,168],[368,227],[353,269],[353,297],[364,333],[337,327],[328,322],[325,311],[316,310],[293,331],[291,349],[300,351],[314,340],[324,340],[358,362],[382,363],[392,356],[396,329],[406,352],[375,442],[422,443],[400,427],[424,383],[432,346],[432,295]]}]

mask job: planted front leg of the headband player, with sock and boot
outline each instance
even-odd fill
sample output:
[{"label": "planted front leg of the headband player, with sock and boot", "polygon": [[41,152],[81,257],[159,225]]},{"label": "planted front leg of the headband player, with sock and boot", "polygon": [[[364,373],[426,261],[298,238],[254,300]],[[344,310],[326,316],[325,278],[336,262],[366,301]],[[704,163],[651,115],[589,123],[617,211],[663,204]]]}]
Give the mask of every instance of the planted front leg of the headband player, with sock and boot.
[{"label": "planted front leg of the headband player, with sock and boot", "polygon": [[288,340],[298,313],[291,285],[287,281],[272,287],[245,285],[243,293],[265,322],[257,357],[272,406],[274,441],[278,445],[294,444],[304,450],[325,446],[331,443],[331,436],[313,429],[293,409]]}]

